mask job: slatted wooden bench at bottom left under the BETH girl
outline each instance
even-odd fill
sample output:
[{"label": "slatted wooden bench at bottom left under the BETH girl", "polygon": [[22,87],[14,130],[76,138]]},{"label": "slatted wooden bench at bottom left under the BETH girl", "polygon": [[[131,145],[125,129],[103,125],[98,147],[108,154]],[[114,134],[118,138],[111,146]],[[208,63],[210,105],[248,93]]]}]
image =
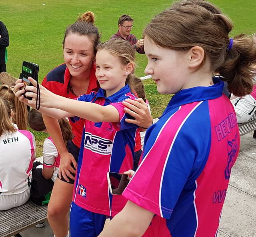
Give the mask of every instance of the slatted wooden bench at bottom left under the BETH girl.
[{"label": "slatted wooden bench at bottom left under the BETH girl", "polygon": [[47,205],[36,205],[32,201],[7,211],[0,211],[0,237],[22,237],[20,232],[45,221],[46,218]]}]

